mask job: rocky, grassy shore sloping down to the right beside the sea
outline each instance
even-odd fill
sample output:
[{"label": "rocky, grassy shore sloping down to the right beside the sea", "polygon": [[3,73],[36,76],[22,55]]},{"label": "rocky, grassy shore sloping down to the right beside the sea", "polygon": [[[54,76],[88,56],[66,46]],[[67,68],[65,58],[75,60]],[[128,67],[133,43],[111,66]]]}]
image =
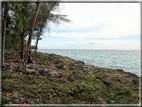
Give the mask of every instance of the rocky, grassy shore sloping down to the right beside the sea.
[{"label": "rocky, grassy shore sloping down to the right beside the sea", "polygon": [[18,54],[5,55],[4,104],[139,103],[136,74],[55,54],[38,52],[32,58],[34,64],[25,64]]}]

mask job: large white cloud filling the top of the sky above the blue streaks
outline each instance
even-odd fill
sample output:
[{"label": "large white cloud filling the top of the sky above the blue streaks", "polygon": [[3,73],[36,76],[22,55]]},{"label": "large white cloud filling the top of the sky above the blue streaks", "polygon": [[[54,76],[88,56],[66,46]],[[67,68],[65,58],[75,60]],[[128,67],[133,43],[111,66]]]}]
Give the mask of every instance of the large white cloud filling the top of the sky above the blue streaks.
[{"label": "large white cloud filling the top of the sky above the blue streaks", "polygon": [[[102,25],[103,29],[121,28],[125,25],[135,28],[140,25],[139,3],[63,3],[61,14],[68,15],[73,22],[53,29],[85,29]],[[133,30],[135,31],[135,30]]]}]

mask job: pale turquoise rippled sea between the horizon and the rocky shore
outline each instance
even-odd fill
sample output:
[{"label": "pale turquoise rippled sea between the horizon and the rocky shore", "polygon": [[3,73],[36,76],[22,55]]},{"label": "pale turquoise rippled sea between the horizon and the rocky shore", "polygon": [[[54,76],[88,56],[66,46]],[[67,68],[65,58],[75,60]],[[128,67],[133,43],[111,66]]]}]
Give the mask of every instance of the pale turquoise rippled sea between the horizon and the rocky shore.
[{"label": "pale turquoise rippled sea between the horizon and the rocky shore", "polygon": [[140,76],[139,50],[76,50],[76,49],[38,49],[38,52],[68,56],[85,64],[98,67],[123,69]]}]

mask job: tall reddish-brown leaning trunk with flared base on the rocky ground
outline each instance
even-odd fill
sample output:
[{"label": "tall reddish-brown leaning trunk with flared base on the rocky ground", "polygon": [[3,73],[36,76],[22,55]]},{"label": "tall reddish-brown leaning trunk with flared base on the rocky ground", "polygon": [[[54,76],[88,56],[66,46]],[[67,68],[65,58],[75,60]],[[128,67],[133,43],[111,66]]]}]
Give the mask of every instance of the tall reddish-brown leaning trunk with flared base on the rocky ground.
[{"label": "tall reddish-brown leaning trunk with flared base on the rocky ground", "polygon": [[27,63],[33,63],[32,59],[31,59],[31,54],[32,54],[31,41],[32,41],[33,30],[34,30],[34,25],[35,25],[35,21],[36,21],[36,18],[37,18],[39,6],[40,6],[40,2],[37,3],[36,10],[35,10],[35,13],[34,13],[32,24],[31,24],[31,28],[30,28],[30,34],[29,34],[28,45],[27,45],[27,55],[25,57],[25,62],[27,62]]}]

